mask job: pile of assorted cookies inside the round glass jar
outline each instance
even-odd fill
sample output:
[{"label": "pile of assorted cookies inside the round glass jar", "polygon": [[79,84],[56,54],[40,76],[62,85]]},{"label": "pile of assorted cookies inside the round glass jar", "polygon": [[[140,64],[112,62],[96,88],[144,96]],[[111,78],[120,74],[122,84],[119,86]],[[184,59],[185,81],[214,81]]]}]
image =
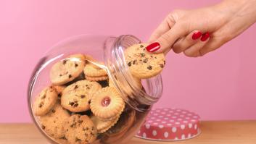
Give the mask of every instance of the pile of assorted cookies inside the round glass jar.
[{"label": "pile of assorted cookies inside the round glass jar", "polygon": [[51,85],[38,94],[33,112],[58,143],[93,143],[120,119],[125,102],[100,65],[74,54],[51,67]]}]

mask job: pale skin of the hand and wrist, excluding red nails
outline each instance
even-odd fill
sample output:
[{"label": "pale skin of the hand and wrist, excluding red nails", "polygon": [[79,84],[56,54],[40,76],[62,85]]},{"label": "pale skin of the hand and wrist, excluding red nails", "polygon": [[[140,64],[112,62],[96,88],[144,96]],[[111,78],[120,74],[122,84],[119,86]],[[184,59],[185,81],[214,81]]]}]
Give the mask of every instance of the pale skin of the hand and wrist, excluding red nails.
[{"label": "pale skin of the hand and wrist, excluding red nails", "polygon": [[[160,43],[154,53],[183,52],[186,56],[204,56],[247,30],[256,22],[256,0],[225,0],[210,7],[170,12],[149,38]],[[193,39],[194,33],[202,35]],[[210,36],[202,41],[205,33]]]}]

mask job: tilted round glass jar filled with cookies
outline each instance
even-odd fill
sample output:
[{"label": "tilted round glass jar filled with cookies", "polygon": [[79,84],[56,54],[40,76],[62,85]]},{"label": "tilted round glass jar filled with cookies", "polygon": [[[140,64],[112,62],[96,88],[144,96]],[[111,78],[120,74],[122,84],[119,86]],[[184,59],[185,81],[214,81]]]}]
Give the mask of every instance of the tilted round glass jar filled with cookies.
[{"label": "tilted round glass jar filled with cookies", "polygon": [[133,35],[78,35],[53,46],[28,85],[33,122],[50,143],[127,143],[162,96],[160,75],[139,80],[125,62]]}]

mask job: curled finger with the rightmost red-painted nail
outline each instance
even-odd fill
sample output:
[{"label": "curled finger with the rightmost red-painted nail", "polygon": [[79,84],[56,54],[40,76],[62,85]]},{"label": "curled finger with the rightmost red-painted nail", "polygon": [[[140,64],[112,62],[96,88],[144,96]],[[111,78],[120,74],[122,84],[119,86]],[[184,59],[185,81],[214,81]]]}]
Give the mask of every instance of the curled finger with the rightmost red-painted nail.
[{"label": "curled finger with the rightmost red-painted nail", "polygon": [[209,41],[209,39],[210,39],[210,34],[205,33],[204,35],[202,35],[202,38],[200,38],[200,41],[198,41],[194,45],[187,48],[185,51],[183,51],[183,53],[186,56],[190,56],[190,57],[202,56],[201,49],[205,46],[205,44]]}]

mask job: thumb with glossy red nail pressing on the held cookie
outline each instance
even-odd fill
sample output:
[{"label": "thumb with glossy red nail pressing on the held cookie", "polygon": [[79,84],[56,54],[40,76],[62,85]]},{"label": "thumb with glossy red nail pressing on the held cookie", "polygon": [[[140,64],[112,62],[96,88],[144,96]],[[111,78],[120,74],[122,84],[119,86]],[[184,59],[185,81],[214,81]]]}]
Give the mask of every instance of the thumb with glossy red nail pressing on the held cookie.
[{"label": "thumb with glossy red nail pressing on the held cookie", "polygon": [[170,48],[178,40],[178,38],[182,38],[184,35],[186,35],[186,33],[188,33],[187,31],[186,26],[183,27],[183,25],[176,23],[170,30],[157,38],[154,43],[146,46],[146,50],[154,53],[170,51]]}]

